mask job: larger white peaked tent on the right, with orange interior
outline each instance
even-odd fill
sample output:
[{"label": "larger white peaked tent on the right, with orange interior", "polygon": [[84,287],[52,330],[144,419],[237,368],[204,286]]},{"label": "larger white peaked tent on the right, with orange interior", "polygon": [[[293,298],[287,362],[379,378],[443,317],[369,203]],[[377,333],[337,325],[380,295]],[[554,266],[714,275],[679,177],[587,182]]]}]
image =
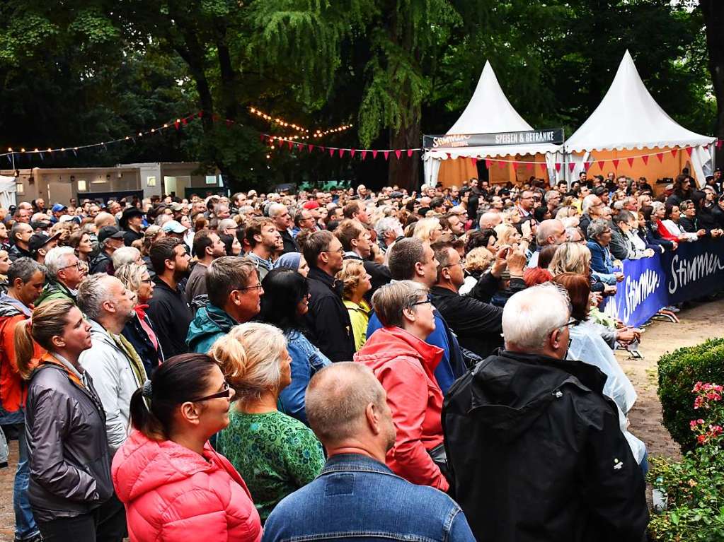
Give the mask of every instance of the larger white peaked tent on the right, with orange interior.
[{"label": "larger white peaked tent on the right, with orange interior", "polygon": [[[687,130],[668,116],[649,94],[631,54],[626,51],[608,92],[589,119],[566,140],[564,152],[568,153],[569,161],[576,163],[578,171],[574,171],[574,175],[578,176],[584,161],[595,163],[597,160],[620,160],[618,173],[651,171],[652,167],[656,173],[656,168],[663,164],[660,155],[665,151],[668,164],[660,169],[671,173],[673,167],[681,166],[681,160],[688,159],[692,173],[702,185],[704,176],[713,169],[714,148],[711,144],[714,140],[714,137]],[[704,148],[707,145],[710,145],[708,150]],[[671,164],[670,158],[676,157],[669,151],[675,147],[681,152],[678,162]],[[691,148],[691,158],[683,150],[686,147]],[[578,154],[571,155],[573,152]],[[659,160],[652,154],[659,154]],[[644,155],[651,155],[654,160],[647,156],[644,162],[641,158]],[[632,163],[628,164],[631,158]],[[563,161],[560,154],[556,161]],[[644,168],[647,162],[649,167]],[[613,169],[610,165],[607,167]]]}]

